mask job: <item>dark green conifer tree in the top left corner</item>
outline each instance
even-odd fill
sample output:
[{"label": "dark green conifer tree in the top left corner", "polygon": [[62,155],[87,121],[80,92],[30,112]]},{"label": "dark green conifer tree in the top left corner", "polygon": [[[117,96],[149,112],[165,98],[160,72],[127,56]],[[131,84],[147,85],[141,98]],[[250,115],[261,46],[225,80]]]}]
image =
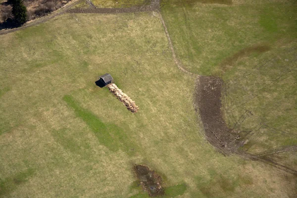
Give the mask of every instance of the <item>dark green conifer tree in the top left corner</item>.
[{"label": "dark green conifer tree in the top left corner", "polygon": [[27,21],[27,8],[23,0],[12,0],[12,15],[19,25]]}]

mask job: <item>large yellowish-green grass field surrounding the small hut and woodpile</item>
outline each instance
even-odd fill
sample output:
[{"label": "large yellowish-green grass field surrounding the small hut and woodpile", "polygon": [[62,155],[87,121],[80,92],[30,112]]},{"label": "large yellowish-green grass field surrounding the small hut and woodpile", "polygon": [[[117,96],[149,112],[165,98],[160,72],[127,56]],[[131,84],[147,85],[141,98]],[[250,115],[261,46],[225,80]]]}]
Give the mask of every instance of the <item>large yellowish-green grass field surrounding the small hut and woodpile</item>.
[{"label": "large yellowish-green grass field surrounding the small hut and woodpile", "polygon": [[[167,197],[296,195],[295,176],[203,138],[195,79],[152,13],[63,14],[0,43],[0,197],[145,198],[136,163],[162,176]],[[107,72],[138,113],[95,85]]]}]

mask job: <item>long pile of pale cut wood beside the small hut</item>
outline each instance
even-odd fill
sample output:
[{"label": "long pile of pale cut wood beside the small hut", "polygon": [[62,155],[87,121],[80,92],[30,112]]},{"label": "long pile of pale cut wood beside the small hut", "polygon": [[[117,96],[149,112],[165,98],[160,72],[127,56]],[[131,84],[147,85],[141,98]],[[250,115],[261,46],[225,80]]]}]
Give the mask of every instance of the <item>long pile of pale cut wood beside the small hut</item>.
[{"label": "long pile of pale cut wood beside the small hut", "polygon": [[135,101],[130,99],[130,97],[127,96],[127,94],[124,94],[122,90],[120,90],[114,83],[110,83],[107,85],[109,91],[116,96],[117,99],[119,99],[123,104],[127,107],[129,111],[132,113],[136,113],[139,108],[136,105]]}]

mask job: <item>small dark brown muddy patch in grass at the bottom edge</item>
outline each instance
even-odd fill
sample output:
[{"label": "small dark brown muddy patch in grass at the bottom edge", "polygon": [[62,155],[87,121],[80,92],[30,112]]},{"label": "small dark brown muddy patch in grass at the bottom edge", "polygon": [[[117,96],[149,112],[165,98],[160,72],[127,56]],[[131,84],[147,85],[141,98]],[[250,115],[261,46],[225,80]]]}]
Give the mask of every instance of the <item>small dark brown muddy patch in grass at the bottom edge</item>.
[{"label": "small dark brown muddy patch in grass at the bottom edge", "polygon": [[164,188],[161,186],[162,178],[145,165],[134,165],[133,170],[145,192],[151,197],[164,195]]}]

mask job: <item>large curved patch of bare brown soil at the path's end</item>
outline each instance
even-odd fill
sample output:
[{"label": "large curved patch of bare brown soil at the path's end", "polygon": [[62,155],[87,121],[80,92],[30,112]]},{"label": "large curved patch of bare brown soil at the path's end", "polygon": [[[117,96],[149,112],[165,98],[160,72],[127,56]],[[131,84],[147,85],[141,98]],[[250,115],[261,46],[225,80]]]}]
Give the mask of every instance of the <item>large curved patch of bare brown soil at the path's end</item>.
[{"label": "large curved patch of bare brown soil at the path's end", "polygon": [[223,80],[200,76],[195,92],[195,108],[199,111],[207,140],[220,152],[235,152],[242,144],[237,131],[227,127],[221,111]]}]

